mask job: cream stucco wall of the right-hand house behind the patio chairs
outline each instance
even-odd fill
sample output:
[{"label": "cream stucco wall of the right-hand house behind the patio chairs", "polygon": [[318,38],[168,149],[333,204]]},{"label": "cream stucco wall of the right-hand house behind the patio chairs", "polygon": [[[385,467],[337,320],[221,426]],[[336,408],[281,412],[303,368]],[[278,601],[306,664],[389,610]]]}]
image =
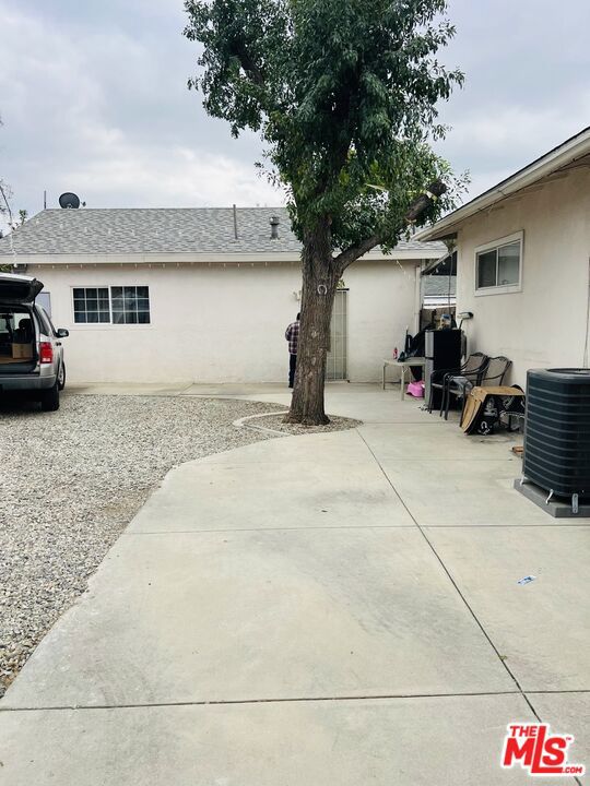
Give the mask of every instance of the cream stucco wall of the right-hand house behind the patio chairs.
[{"label": "cream stucco wall of the right-hand house behind the patio chairs", "polygon": [[[475,295],[475,248],[523,231],[522,287]],[[465,222],[458,236],[458,312],[469,350],[512,360],[510,381],[531,368],[580,367],[589,297],[590,170],[574,169]]]}]

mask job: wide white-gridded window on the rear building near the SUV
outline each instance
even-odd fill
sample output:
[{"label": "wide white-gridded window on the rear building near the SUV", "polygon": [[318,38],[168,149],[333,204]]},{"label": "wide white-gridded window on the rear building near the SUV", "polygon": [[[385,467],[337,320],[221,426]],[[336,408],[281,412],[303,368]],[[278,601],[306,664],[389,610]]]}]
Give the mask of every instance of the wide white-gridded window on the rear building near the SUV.
[{"label": "wide white-gridded window on the rear building near the SUV", "polygon": [[72,287],[75,324],[150,324],[150,287]]}]

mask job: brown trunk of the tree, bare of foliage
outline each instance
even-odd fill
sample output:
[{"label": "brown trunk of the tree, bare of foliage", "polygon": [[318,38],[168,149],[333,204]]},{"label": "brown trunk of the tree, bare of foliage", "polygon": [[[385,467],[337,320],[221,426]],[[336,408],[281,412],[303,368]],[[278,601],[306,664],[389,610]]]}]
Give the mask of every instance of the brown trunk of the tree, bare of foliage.
[{"label": "brown trunk of the tree, bare of foliage", "polygon": [[329,225],[304,239],[303,290],[297,372],[287,422],[324,426],[326,357],[330,350],[330,322],[340,274],[330,247]]}]

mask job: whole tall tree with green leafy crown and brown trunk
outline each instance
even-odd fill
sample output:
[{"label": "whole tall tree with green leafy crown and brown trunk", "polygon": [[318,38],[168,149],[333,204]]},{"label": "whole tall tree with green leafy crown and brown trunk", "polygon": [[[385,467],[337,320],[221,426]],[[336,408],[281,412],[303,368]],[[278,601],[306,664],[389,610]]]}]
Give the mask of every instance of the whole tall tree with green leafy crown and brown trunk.
[{"label": "whole tall tree with green leafy crown and brown trunk", "polygon": [[436,59],[455,33],[446,2],[187,0],[186,11],[185,35],[202,45],[189,86],[234,135],[261,134],[266,169],[287,191],[304,246],[291,419],[326,421],[329,321],[343,271],[376,246],[394,247],[409,221],[436,218],[457,190],[428,144],[445,132],[437,103],[463,79]]}]

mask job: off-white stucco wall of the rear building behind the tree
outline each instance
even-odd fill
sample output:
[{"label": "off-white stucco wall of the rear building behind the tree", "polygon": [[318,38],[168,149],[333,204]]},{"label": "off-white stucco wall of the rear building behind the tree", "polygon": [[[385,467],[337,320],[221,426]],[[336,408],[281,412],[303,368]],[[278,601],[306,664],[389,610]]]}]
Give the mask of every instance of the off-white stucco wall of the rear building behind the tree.
[{"label": "off-white stucco wall of the rear building behind the tree", "polygon": [[[51,296],[64,340],[69,381],[285,382],[286,325],[300,288],[297,263],[240,267],[202,264],[30,265]],[[380,362],[415,329],[418,260],[365,261],[344,276],[349,298],[349,376],[377,381]],[[149,286],[150,325],[80,325],[75,286]]]}]

